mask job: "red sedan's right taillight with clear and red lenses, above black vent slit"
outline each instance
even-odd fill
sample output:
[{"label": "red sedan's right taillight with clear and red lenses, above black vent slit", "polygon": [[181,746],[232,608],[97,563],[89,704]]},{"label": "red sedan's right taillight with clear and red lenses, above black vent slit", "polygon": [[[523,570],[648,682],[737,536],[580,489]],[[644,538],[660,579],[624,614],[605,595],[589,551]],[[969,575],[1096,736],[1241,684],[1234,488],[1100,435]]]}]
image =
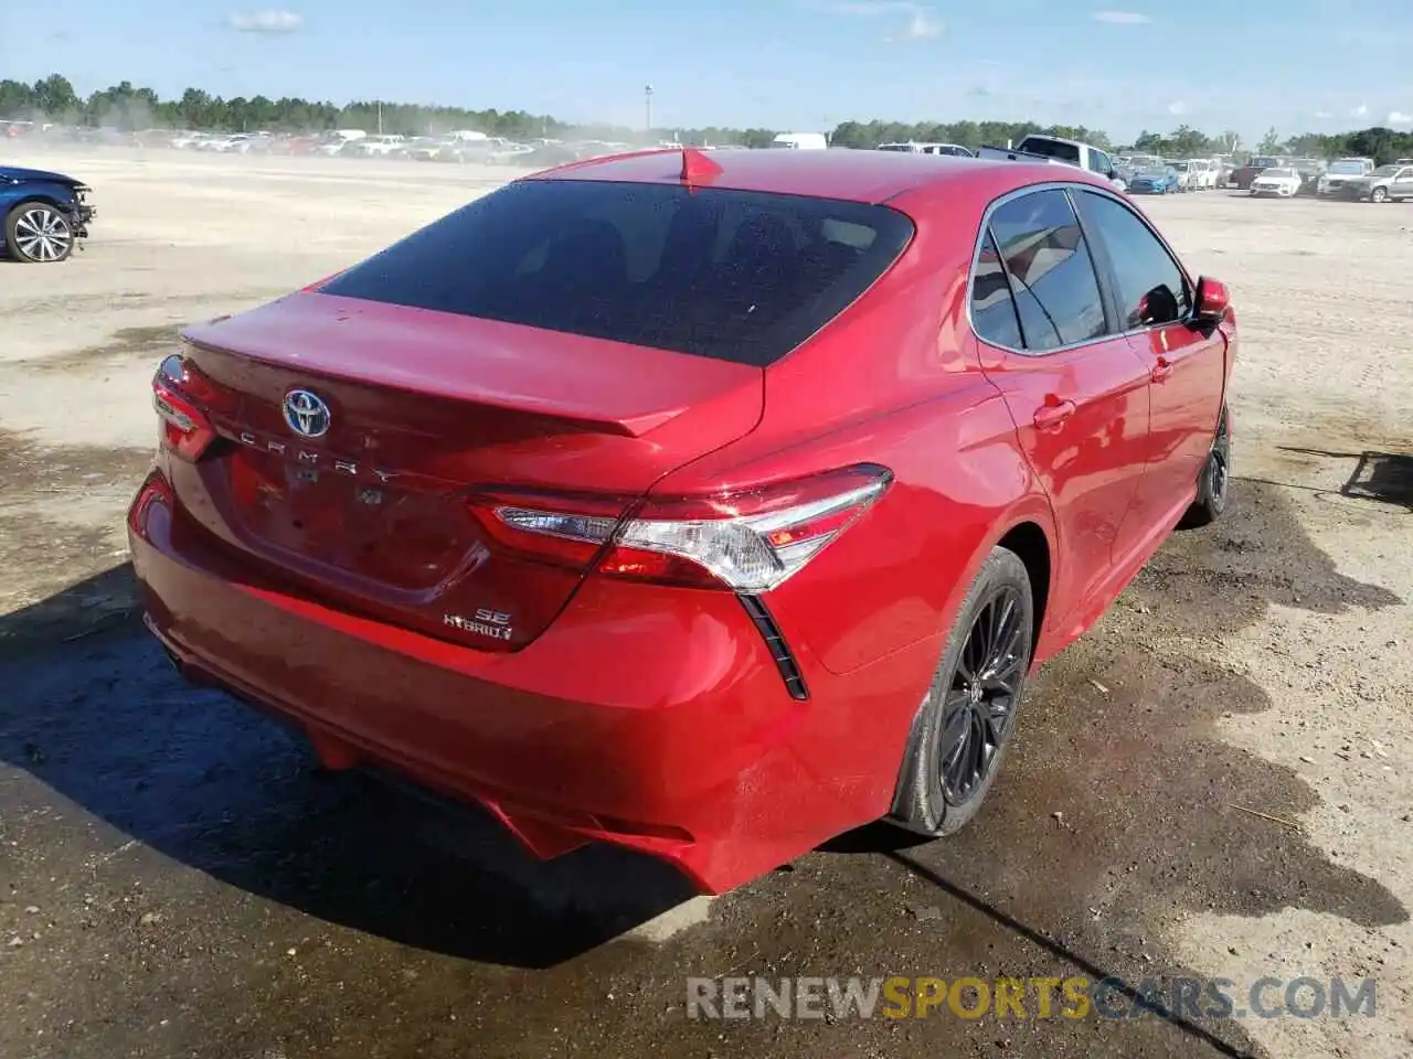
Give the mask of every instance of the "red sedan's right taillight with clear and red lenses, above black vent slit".
[{"label": "red sedan's right taillight with clear and red lenses, above black vent slit", "polygon": [[[892,473],[846,467],[749,493],[622,504],[480,498],[502,544],[615,578],[769,592],[801,570],[883,494]],[[615,510],[617,508],[617,510]]]}]

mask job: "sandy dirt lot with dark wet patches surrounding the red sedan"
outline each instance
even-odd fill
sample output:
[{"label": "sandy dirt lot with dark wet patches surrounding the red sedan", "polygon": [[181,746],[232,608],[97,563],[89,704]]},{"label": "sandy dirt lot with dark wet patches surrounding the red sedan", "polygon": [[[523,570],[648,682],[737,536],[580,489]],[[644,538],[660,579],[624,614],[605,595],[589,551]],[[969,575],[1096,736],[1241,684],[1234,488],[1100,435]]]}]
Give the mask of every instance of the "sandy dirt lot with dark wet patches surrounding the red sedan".
[{"label": "sandy dirt lot with dark wet patches surrounding the red sedan", "polygon": [[[322,774],[133,614],[122,514],[172,329],[503,174],[13,161],[86,179],[99,216],[65,265],[0,261],[0,1056],[1413,1052],[1413,208],[1145,202],[1241,313],[1229,515],[1046,668],[972,827],[865,829],[705,905]],[[688,1019],[685,977],[726,974],[1373,977],[1378,1010]]]}]

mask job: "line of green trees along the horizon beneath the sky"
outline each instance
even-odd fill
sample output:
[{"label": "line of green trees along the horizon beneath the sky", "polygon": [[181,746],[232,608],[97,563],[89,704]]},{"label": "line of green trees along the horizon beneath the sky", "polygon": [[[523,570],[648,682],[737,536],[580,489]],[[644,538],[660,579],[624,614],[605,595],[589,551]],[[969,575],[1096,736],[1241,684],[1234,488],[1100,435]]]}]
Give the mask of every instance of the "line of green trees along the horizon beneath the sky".
[{"label": "line of green trees along the horizon beneath the sky", "polygon": [[[205,131],[288,131],[318,133],[326,128],[363,128],[369,133],[422,136],[475,128],[507,140],[599,138],[613,141],[656,141],[680,137],[687,144],[766,147],[773,128],[678,128],[634,130],[620,126],[593,126],[561,121],[550,114],[524,110],[471,110],[449,106],[418,106],[357,100],[338,104],[307,99],[270,99],[267,96],[213,96],[189,88],[177,99],[161,99],[148,88],[122,82],[112,88],[79,96],[73,85],[58,73],[32,85],[0,80],[0,119],[47,120],[61,124],[116,127],[124,131],[143,128],[201,128]],[[1245,144],[1235,131],[1210,136],[1190,126],[1171,133],[1143,131],[1132,144],[1116,144],[1096,128],[1082,126],[1041,126],[1034,121],[844,121],[831,130],[835,147],[873,148],[885,143],[909,140],[952,143],[976,150],[983,144],[1005,145],[1030,133],[1047,133],[1082,140],[1105,150],[1146,151],[1171,158],[1207,154],[1291,154],[1320,158],[1368,155],[1381,164],[1413,157],[1413,133],[1392,128],[1362,128],[1349,133],[1303,133],[1282,138],[1272,128],[1258,143]]]}]

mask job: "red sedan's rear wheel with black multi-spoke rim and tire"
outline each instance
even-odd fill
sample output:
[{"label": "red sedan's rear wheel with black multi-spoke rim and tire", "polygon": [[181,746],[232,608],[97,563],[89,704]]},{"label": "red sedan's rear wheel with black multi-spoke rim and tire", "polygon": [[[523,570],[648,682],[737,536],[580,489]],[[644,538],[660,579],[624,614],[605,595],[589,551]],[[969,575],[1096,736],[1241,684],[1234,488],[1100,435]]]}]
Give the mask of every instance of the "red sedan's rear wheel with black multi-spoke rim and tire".
[{"label": "red sedan's rear wheel with black multi-spoke rim and tire", "polygon": [[[913,719],[892,823],[940,837],[959,830],[981,809],[1016,730],[1033,633],[1034,594],[1026,565],[1015,552],[993,548],[957,611]],[[966,678],[968,669],[988,662],[991,682]],[[996,671],[996,665],[1002,668]],[[959,753],[952,770],[944,764],[948,751]]]}]

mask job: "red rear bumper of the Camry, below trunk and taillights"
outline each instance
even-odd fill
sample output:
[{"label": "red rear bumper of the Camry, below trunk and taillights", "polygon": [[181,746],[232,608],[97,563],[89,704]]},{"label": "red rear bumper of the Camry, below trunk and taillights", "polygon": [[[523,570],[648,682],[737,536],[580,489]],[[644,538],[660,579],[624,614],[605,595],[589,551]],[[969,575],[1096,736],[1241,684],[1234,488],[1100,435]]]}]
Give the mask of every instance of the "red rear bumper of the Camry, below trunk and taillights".
[{"label": "red rear bumper of the Camry, below trunk and taillights", "polygon": [[[168,501],[129,518],[147,624],[192,681],[305,731],[331,767],[476,801],[540,857],[605,840],[705,892],[887,813],[927,642],[849,678],[801,650],[797,700],[740,602],[589,579],[513,654],[261,585]],[[886,720],[892,717],[892,720]]]}]

